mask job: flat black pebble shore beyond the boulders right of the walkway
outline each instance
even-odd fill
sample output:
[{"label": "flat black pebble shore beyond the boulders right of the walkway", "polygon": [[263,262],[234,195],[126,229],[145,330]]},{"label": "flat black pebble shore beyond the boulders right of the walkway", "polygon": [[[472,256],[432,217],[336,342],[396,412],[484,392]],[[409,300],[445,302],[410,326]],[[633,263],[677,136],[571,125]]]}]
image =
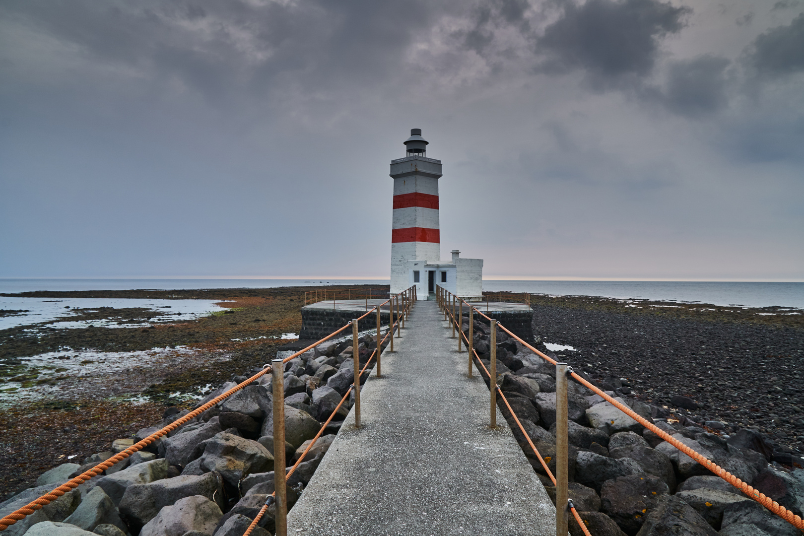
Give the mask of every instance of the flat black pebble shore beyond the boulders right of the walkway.
[{"label": "flat black pebble shore beyond the boulders right of the walkway", "polygon": [[[804,450],[804,329],[790,325],[800,317],[779,317],[784,321],[774,325],[768,313],[754,313],[757,321],[745,314],[730,320],[728,311],[696,319],[683,317],[686,305],[629,311],[617,301],[601,309],[605,298],[552,301],[556,305],[549,297],[534,305],[534,334],[572,346],[575,351],[554,354],[576,370],[601,382],[623,378],[623,394],[698,423],[723,421],[724,433],[753,428],[794,452]],[[724,311],[712,305],[694,309]],[[694,399],[699,408],[674,407],[674,395]]]}]

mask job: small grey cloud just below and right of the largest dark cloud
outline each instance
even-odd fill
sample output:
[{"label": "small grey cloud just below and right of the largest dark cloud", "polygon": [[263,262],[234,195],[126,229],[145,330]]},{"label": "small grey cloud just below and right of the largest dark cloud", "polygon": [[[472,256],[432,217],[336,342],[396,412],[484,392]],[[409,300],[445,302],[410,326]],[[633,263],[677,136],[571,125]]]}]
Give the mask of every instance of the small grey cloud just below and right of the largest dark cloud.
[{"label": "small grey cloud just below and right of the largest dark cloud", "polygon": [[689,117],[723,108],[728,104],[725,69],[729,63],[712,55],[671,63],[663,97],[667,108]]}]

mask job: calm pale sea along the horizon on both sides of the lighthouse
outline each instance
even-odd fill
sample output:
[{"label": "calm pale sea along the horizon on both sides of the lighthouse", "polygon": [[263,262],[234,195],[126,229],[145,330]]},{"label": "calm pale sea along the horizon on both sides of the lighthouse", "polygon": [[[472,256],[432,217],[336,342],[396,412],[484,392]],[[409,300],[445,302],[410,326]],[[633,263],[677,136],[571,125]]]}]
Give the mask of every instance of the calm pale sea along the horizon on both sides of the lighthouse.
[{"label": "calm pale sea along the horizon on both sides of the lighthouse", "polygon": [[[269,288],[324,284],[388,284],[389,280],[336,279],[0,279],[0,293],[34,290],[125,290],[133,288]],[[713,305],[804,309],[804,283],[732,281],[554,281],[483,280],[489,292],[555,296],[701,302]]]}]

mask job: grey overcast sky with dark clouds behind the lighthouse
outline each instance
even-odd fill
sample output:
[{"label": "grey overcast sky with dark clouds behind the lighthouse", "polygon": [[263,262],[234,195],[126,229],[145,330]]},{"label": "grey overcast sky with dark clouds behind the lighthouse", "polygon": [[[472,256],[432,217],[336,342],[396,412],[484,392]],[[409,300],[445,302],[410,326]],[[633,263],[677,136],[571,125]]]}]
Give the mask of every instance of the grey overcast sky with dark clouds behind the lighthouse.
[{"label": "grey overcast sky with dark clouds behind the lighthouse", "polygon": [[4,0],[0,276],[804,280],[804,0]]}]

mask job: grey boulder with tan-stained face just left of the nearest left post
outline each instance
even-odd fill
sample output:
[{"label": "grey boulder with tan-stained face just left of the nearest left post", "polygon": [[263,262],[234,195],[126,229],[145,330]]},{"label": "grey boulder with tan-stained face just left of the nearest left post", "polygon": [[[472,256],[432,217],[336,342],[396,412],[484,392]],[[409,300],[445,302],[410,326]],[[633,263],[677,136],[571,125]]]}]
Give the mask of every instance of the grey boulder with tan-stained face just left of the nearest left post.
[{"label": "grey boulder with tan-stained face just left of the nearest left post", "polygon": [[273,468],[273,455],[256,441],[221,432],[203,442],[201,468],[217,471],[236,486],[244,475]]}]

